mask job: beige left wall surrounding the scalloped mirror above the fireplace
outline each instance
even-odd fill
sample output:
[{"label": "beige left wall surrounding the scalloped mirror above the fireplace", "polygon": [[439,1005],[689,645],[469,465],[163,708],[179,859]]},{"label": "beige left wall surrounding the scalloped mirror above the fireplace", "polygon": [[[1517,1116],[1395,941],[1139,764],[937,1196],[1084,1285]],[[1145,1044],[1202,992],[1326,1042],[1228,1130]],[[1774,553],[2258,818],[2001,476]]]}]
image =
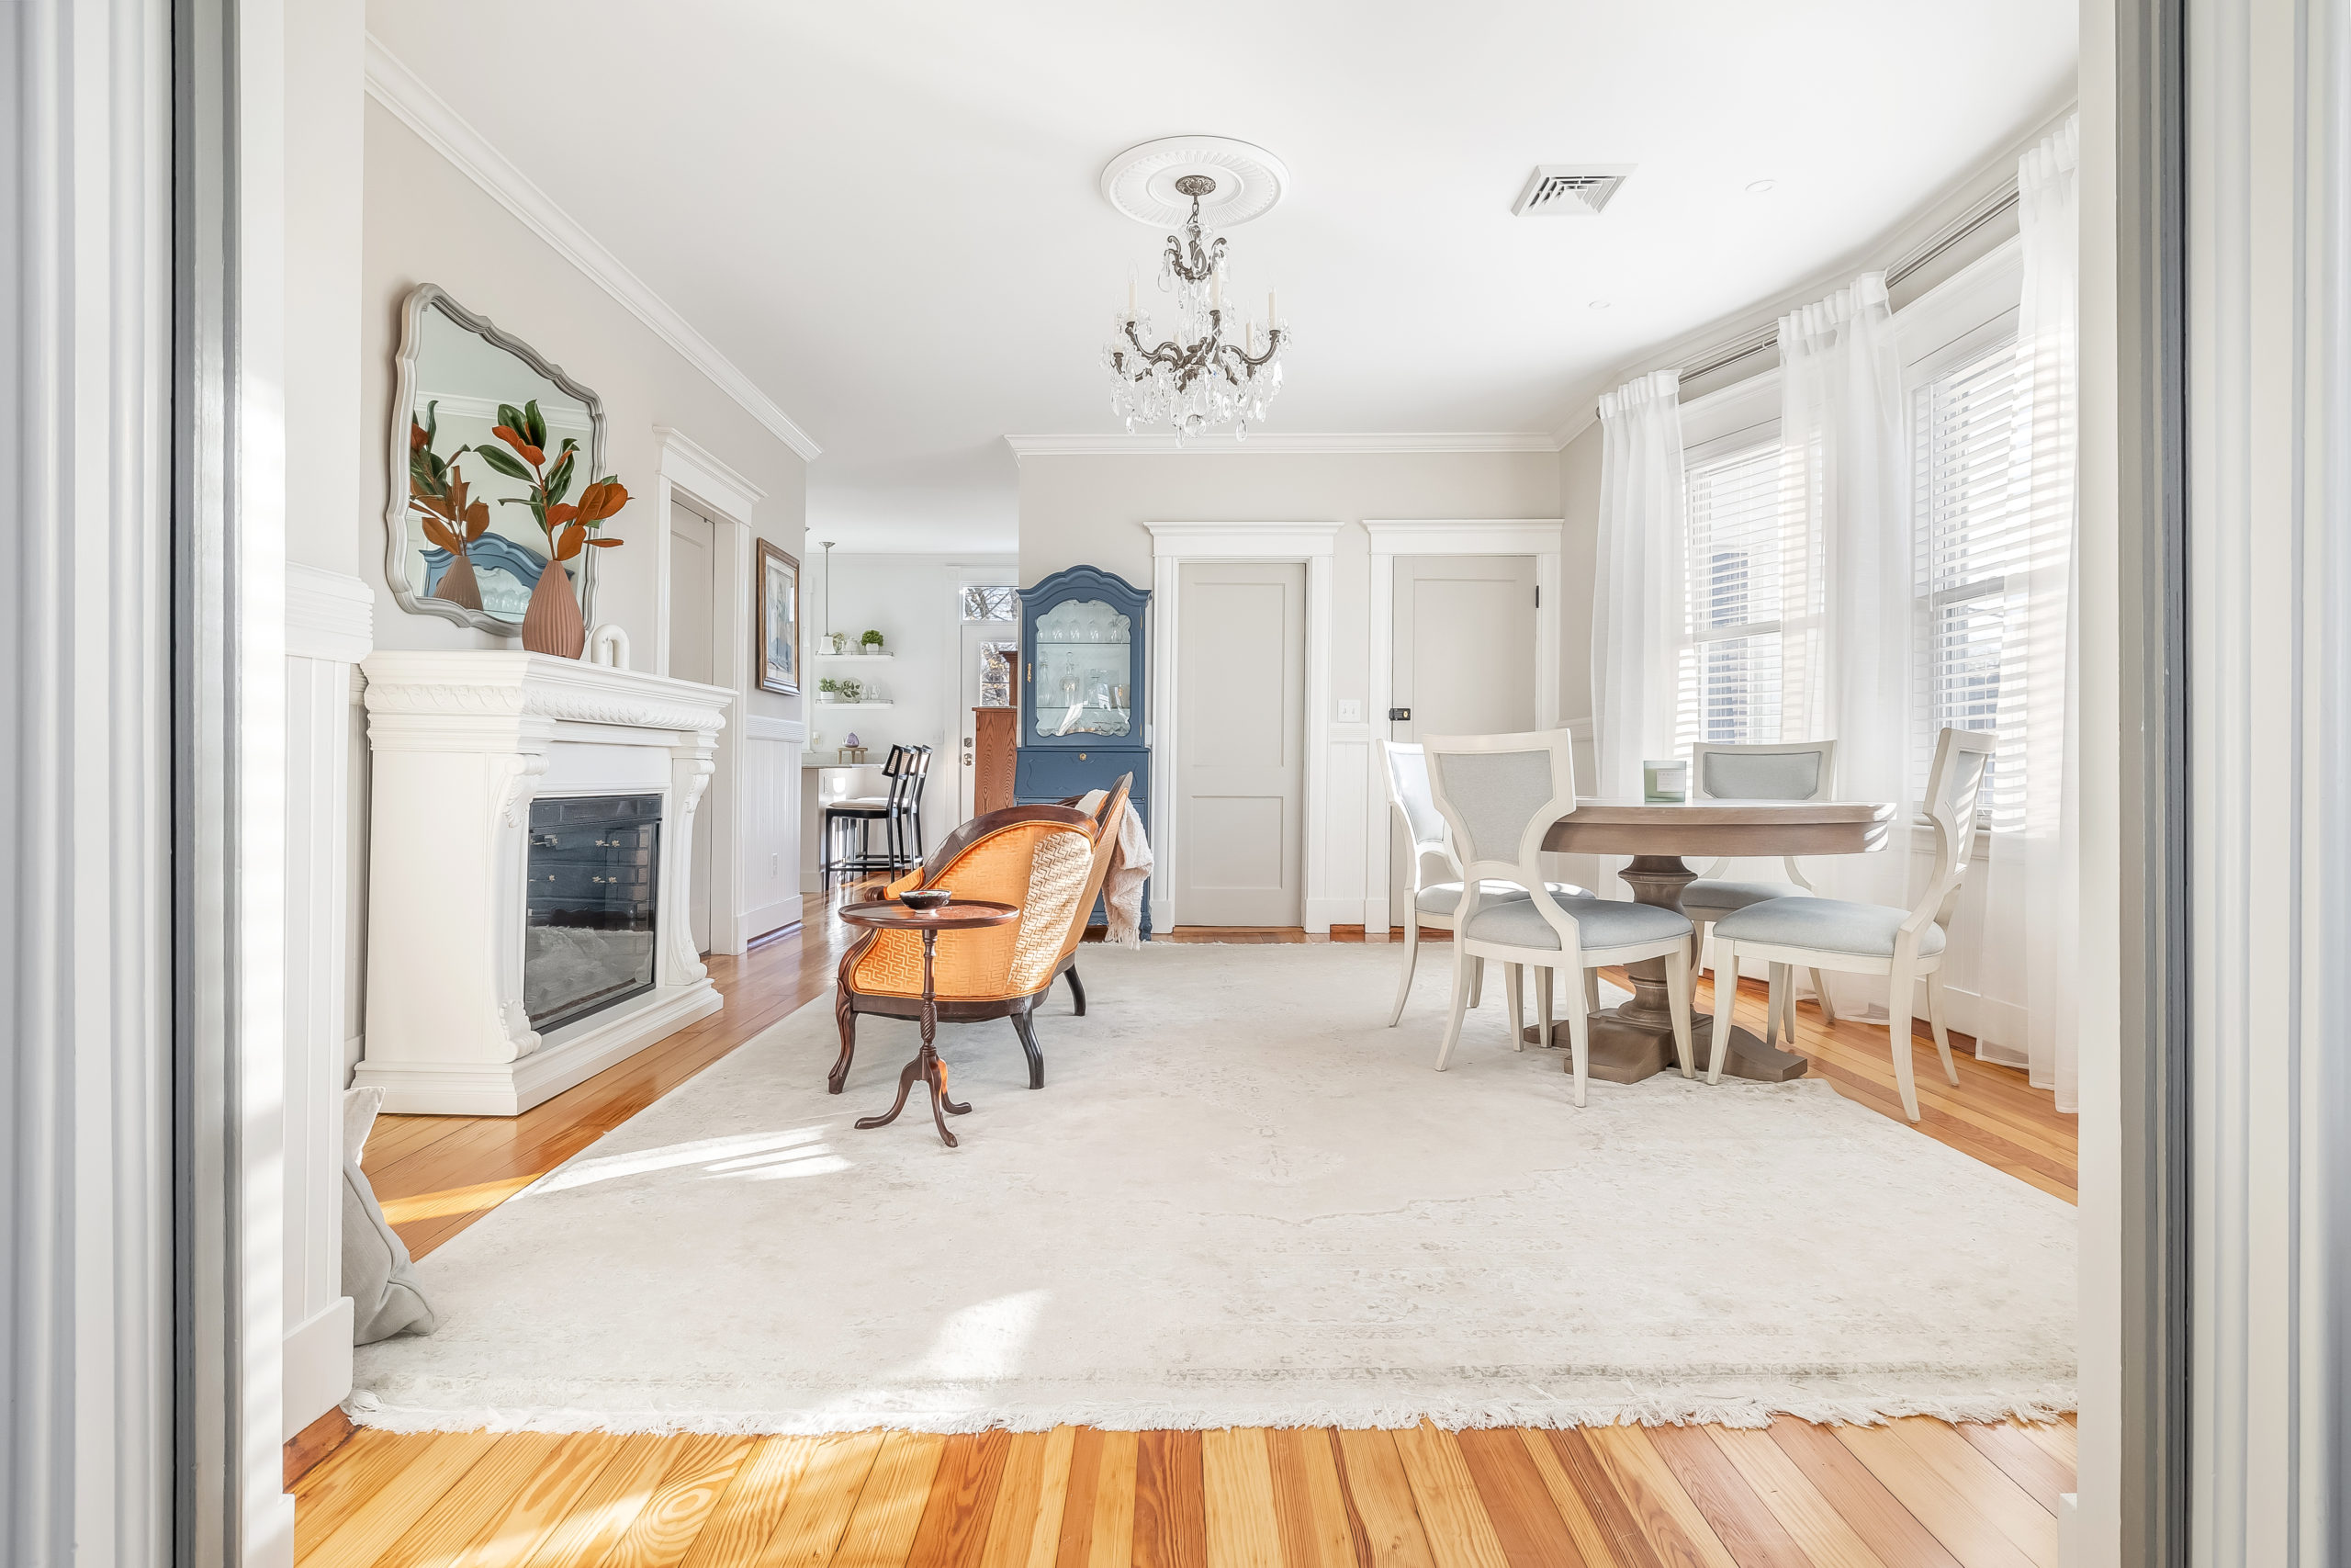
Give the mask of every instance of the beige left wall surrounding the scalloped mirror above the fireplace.
[{"label": "beige left wall surrounding the scalloped mirror above the fireplace", "polygon": [[[609,214],[607,214],[609,216]],[[364,242],[360,256],[360,496],[353,567],[376,590],[376,646],[515,646],[440,616],[402,611],[383,583],[383,508],[390,487],[393,353],[400,301],[435,282],[487,315],[604,400],[607,470],[632,501],[607,538],[628,541],[597,562],[597,618],[616,621],[637,665],[654,663],[654,428],[684,433],[766,491],[757,534],[804,557],[809,465],[734,397],[630,315],[538,235],[416,139],[381,103],[367,103]],[[320,520],[331,531],[329,520]],[[301,559],[320,559],[317,541]],[[799,717],[799,698],[752,693],[752,712]]]}]

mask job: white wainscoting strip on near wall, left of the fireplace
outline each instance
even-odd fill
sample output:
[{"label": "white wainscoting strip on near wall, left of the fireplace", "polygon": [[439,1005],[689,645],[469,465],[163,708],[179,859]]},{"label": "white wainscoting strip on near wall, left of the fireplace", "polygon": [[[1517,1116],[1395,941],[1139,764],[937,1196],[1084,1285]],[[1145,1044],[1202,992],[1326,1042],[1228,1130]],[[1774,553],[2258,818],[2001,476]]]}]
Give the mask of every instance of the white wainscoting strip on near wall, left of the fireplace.
[{"label": "white wainscoting strip on near wall, left of the fireplace", "polygon": [[284,1436],[350,1394],[343,1041],[350,1032],[353,733],[376,597],[287,567]]}]

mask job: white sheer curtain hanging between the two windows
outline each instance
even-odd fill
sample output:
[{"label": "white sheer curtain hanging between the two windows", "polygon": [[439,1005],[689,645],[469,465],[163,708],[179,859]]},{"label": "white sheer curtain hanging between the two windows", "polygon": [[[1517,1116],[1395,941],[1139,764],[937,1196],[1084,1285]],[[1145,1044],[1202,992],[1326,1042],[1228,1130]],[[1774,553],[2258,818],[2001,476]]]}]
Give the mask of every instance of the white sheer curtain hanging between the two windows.
[{"label": "white sheer curtain hanging between the two windows", "polygon": [[[1916,637],[1911,632],[1909,449],[1902,355],[1886,275],[1780,317],[1782,496],[1801,508],[1817,571],[1817,656],[1791,672],[1782,703],[1801,705],[1782,733],[1836,741],[1836,792],[1895,802],[1895,842],[1874,856],[1806,863],[1827,898],[1909,903],[1909,766]],[[1789,656],[1808,649],[1789,649]],[[1799,729],[1801,726],[1801,729]],[[1841,1013],[1883,1006],[1867,976],[1831,976]]]}]

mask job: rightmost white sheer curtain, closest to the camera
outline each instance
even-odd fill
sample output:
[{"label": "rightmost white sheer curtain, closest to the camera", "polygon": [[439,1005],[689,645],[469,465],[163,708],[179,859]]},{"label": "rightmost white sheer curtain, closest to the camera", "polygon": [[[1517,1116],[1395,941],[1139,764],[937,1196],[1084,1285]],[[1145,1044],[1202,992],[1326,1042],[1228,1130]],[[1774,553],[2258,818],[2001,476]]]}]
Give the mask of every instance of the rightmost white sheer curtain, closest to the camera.
[{"label": "rightmost white sheer curtain, closest to the camera", "polygon": [[1987,1039],[1987,1060],[2024,1067],[2057,1110],[2076,1110],[2076,343],[2081,292],[2078,120],[2017,165],[2024,296],[2017,310],[2017,418],[2010,505],[2024,517],[2001,599],[2001,750],[1984,870],[1982,992],[2024,1018]]}]

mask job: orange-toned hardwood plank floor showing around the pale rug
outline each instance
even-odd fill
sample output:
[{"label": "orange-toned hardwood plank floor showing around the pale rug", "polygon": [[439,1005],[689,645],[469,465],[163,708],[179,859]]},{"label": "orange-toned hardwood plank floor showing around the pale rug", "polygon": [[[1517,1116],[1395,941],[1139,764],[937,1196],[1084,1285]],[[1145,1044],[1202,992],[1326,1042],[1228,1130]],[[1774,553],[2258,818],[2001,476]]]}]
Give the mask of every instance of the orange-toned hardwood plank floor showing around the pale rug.
[{"label": "orange-toned hardwood plank floor showing around the pale rug", "polygon": [[[1171,940],[1364,940],[1201,931]],[[1375,938],[1378,940],[1378,938]],[[383,1117],[364,1166],[428,1253],[825,994],[842,929],[712,959],[726,1011],[522,1117]],[[1709,1006],[1704,1001],[1700,1006]],[[1742,985],[1740,1020],[1763,997]],[[1751,1013],[1751,1016],[1749,1016]],[[1972,1041],[1968,1041],[1972,1044]],[[2067,1201],[2074,1117],[1918,1037],[1921,1128]],[[1900,1117],[1886,1030],[1796,1048]],[[1227,1429],[936,1436],[360,1432],[296,1483],[303,1568],[2052,1568],[2074,1427]]]}]

